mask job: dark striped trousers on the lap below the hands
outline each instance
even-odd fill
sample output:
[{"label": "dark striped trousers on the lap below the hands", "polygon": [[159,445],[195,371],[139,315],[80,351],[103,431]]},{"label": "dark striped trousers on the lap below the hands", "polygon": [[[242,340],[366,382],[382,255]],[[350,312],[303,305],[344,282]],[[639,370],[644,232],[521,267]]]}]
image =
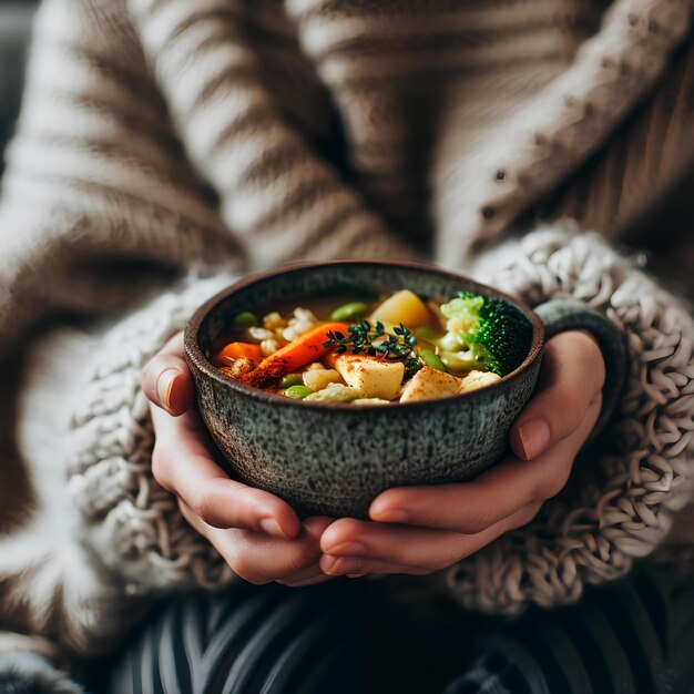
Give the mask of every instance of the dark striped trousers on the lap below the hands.
[{"label": "dark striped trousers on the lap below the hands", "polygon": [[509,622],[404,611],[388,582],[236,586],[171,600],[110,694],[692,694],[694,582],[646,567]]}]

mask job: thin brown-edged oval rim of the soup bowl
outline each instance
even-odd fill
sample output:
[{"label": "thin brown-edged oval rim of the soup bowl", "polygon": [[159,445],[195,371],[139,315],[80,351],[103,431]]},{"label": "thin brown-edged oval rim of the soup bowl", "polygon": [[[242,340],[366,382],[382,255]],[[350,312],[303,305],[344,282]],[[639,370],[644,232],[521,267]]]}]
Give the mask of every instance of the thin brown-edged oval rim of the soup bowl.
[{"label": "thin brown-edged oval rim of the soup bowl", "polygon": [[[439,277],[448,279],[450,282],[463,283],[468,285],[471,290],[479,294],[486,294],[489,296],[502,298],[520,308],[523,314],[529,318],[532,325],[532,339],[530,343],[530,349],[528,350],[528,355],[516,369],[513,369],[510,374],[502,376],[501,380],[494,384],[490,384],[488,386],[482,386],[481,388],[476,388],[474,390],[470,390],[468,392],[461,392],[457,396],[447,396],[442,398],[431,398],[428,400],[416,400],[414,402],[390,402],[388,406],[360,405],[357,408],[355,408],[355,406],[350,402],[306,402],[305,400],[293,400],[292,398],[287,398],[279,394],[268,392],[266,390],[262,390],[261,388],[255,388],[254,386],[247,386],[222,374],[222,371],[220,371],[217,367],[213,366],[207,357],[205,357],[203,350],[200,347],[198,335],[205,319],[218,304],[228,299],[237,292],[261,282],[272,280],[273,278],[286,274],[300,273],[307,269],[337,265],[351,265],[363,267],[375,266],[380,268],[390,267],[394,269],[401,268],[425,272],[428,274],[438,275]],[[448,268],[415,261],[369,261],[346,258],[292,263],[288,265],[282,265],[280,267],[276,267],[273,269],[246,275],[238,282],[235,282],[228,287],[222,289],[221,292],[217,292],[214,296],[211,296],[195,310],[195,313],[191,316],[185,326],[183,344],[185,349],[185,358],[186,361],[188,361],[188,367],[195,366],[198,371],[202,371],[208,378],[212,378],[218,384],[237,391],[239,395],[251,397],[255,400],[261,400],[263,402],[268,402],[271,405],[277,405],[280,407],[303,407],[320,411],[389,411],[394,408],[400,411],[404,408],[436,408],[445,406],[446,404],[450,406],[455,402],[459,402],[461,399],[465,399],[466,401],[474,400],[476,398],[486,397],[490,391],[508,388],[511,384],[517,381],[523,375],[523,372],[538,360],[538,358],[542,354],[542,347],[544,346],[544,325],[540,317],[532,310],[532,308],[528,304],[525,304],[525,302],[510,296],[499,289],[494,289],[493,287],[480,284],[479,282],[476,282],[466,275],[450,271]]]}]

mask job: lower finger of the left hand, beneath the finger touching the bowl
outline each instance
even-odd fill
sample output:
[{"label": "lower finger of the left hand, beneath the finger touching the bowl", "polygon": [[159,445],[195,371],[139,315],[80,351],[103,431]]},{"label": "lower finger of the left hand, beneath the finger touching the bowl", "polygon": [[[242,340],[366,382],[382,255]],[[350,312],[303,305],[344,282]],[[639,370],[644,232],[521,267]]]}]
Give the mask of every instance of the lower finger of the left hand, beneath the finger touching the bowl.
[{"label": "lower finger of the left hand, beneath the finger touching the bowl", "polygon": [[319,539],[333,522],[307,519],[294,540],[279,540],[246,530],[220,530],[208,525],[203,534],[242,579],[263,585],[296,576],[315,567],[320,557]]}]

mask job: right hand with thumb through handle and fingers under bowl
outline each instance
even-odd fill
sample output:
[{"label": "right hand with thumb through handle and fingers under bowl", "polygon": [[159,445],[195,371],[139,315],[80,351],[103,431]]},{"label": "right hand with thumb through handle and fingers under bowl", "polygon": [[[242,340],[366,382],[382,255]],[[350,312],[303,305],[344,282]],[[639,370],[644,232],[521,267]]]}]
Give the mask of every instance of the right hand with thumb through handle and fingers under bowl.
[{"label": "right hand with thumb through handle and fingers under bowl", "polygon": [[369,509],[376,522],[340,519],[324,532],[322,569],[351,576],[431,573],[528,523],[567,483],[598,420],[604,378],[590,335],[549,340],[537,394],[511,429],[514,456],[470,482],[382,492]]}]

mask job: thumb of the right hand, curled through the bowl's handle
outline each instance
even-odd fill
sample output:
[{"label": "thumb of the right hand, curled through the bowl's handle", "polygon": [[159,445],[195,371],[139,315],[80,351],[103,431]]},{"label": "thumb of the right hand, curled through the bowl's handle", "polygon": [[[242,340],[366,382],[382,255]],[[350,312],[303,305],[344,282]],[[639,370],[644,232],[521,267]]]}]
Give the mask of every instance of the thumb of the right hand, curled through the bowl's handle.
[{"label": "thumb of the right hand, curled through the bowl's handle", "polygon": [[542,356],[540,391],[513,422],[513,452],[530,460],[575,431],[605,381],[605,365],[588,333],[562,333]]}]

